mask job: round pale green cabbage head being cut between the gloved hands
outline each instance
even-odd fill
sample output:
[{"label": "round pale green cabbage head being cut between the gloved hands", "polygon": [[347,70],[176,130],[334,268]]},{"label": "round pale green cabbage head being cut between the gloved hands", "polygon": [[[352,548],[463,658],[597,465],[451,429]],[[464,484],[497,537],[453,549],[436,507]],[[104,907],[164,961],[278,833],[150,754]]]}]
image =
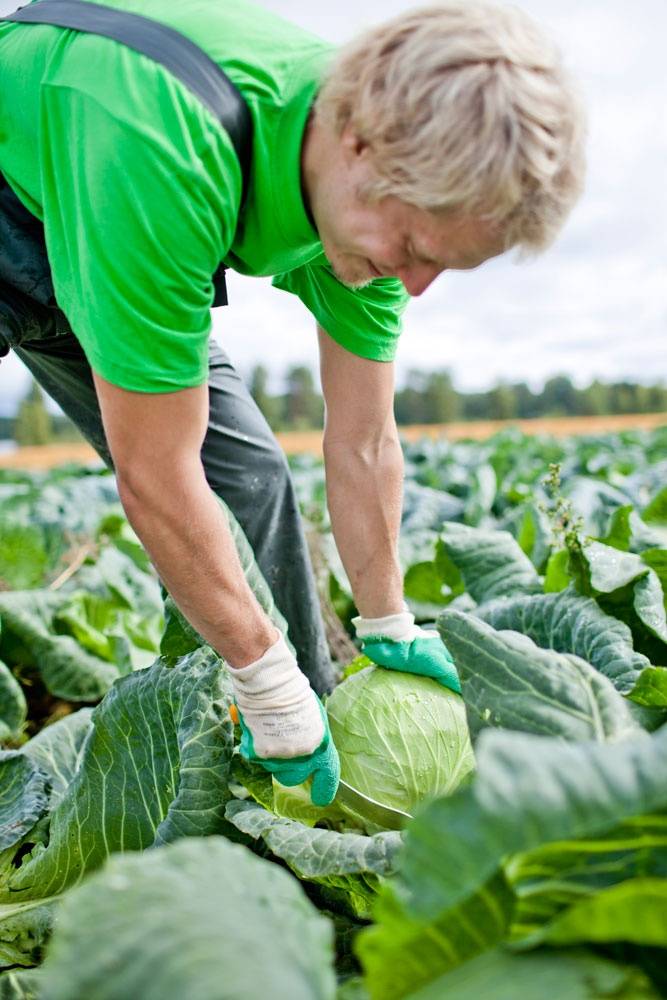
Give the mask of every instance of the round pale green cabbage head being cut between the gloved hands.
[{"label": "round pale green cabbage head being cut between the gloved hands", "polygon": [[463,699],[431,678],[366,667],[326,708],[341,777],[384,805],[412,812],[449,795],[475,765]]}]

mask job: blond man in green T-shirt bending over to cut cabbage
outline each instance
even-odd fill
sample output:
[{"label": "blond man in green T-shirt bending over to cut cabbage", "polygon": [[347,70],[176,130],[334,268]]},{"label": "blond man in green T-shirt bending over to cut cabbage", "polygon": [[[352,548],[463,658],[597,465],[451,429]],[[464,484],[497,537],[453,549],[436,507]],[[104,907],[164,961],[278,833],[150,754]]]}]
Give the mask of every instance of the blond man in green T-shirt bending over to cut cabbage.
[{"label": "blond man in green T-shirt bending over to cut cabbage", "polygon": [[0,335],[113,461],[161,578],[231,667],[242,751],[285,783],[312,775],[323,804],[338,764],[313,691],[331,684],[315,589],[284,459],[228,359],[213,347],[207,365],[212,275],[221,261],[274,275],[315,317],[327,498],[357,635],[379,665],[457,690],[444,645],[403,603],[400,315],[448,268],[550,242],[581,186],[581,116],[557,54],[514,8],[407,13],[336,58],[245,0],[140,10],[240,90],[245,200],[228,134],[164,66],[94,34],[0,25]]}]

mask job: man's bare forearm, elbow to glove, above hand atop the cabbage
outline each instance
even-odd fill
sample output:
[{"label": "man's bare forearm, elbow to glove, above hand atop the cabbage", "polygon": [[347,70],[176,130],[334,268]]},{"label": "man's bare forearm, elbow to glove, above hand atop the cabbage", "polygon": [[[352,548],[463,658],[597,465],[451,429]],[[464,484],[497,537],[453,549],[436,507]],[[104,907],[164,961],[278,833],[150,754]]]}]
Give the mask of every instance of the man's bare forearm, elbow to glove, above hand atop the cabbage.
[{"label": "man's bare forearm, elbow to glove, above hand atop the cabbage", "polygon": [[403,456],[398,437],[355,447],[327,445],[327,501],[331,525],[355,603],[365,618],[400,611],[403,578],[398,535],[403,499]]}]

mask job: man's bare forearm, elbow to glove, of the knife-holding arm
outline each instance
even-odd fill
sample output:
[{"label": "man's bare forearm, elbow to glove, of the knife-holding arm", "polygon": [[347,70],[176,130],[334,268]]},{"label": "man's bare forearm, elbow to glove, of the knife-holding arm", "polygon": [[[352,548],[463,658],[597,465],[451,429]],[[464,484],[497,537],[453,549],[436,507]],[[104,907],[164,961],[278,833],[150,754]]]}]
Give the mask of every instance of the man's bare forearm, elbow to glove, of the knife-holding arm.
[{"label": "man's bare forearm, elbow to glove, of the knife-holding arm", "polygon": [[231,666],[258,659],[277,630],[245,579],[224,511],[198,463],[140,485],[118,471],[121,500],[179,608]]}]

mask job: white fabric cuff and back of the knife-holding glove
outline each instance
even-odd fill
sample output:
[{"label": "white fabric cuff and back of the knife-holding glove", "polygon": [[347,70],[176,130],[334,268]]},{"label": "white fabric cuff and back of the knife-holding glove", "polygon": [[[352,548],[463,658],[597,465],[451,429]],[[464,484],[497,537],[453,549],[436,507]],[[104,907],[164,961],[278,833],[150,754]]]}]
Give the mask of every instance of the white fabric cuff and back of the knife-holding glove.
[{"label": "white fabric cuff and back of the knife-holding glove", "polygon": [[282,635],[247,667],[229,671],[258,757],[299,757],[324,739],[317,696]]}]

